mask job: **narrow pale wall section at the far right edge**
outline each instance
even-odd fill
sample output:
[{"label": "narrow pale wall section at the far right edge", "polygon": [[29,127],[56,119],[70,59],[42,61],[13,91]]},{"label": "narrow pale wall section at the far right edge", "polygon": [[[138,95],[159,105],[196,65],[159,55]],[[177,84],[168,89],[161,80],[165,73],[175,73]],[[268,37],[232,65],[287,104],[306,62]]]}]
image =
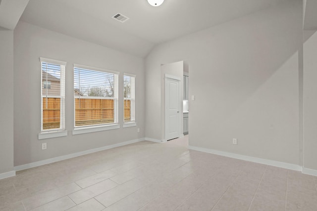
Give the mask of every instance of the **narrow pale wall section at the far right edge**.
[{"label": "narrow pale wall section at the far right edge", "polygon": [[304,168],[317,170],[317,33],[304,35]]}]

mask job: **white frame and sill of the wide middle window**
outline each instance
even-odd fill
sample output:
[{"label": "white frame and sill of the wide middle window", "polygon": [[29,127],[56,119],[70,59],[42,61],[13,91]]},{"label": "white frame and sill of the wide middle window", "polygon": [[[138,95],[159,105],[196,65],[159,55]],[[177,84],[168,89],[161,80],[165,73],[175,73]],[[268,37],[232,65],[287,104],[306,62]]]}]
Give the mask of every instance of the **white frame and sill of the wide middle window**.
[{"label": "white frame and sill of the wide middle window", "polygon": [[[89,71],[98,71],[98,72],[104,72],[108,74],[113,74],[114,75],[114,90],[113,90],[113,95],[114,97],[95,97],[95,96],[84,96],[83,98],[85,99],[113,99],[114,100],[114,105],[113,105],[113,113],[114,113],[114,122],[113,123],[104,123],[104,124],[95,124],[95,125],[87,125],[87,126],[76,126],[76,103],[75,100],[76,98],[80,98],[73,95],[74,99],[74,129],[72,131],[73,135],[76,134],[82,134],[82,133],[88,133],[88,132],[96,132],[96,131],[103,131],[103,130],[109,130],[109,129],[117,129],[120,128],[119,123],[118,123],[118,89],[119,89],[119,75],[120,73],[117,71],[113,70],[108,70],[108,69],[102,69],[102,68],[96,68],[96,67],[91,67],[91,66],[86,66],[86,65],[80,65],[80,64],[73,64],[73,73],[75,72],[75,69],[84,69],[84,70],[89,70]],[[75,83],[75,74],[74,74],[74,82]],[[75,88],[75,85],[74,87]]]}]

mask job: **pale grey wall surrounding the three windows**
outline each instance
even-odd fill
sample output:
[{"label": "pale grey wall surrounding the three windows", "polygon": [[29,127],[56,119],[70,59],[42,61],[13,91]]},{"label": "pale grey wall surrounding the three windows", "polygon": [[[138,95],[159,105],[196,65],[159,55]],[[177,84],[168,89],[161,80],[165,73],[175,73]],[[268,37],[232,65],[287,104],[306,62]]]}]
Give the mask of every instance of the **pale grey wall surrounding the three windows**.
[{"label": "pale grey wall surrounding the three windows", "polygon": [[[39,57],[66,61],[65,124],[68,136],[38,140],[41,130],[41,64]],[[119,91],[120,129],[72,135],[74,121],[73,64],[136,75],[137,127],[122,128],[123,89]],[[25,22],[14,30],[14,166],[145,137],[144,59],[77,40]],[[11,83],[12,84],[12,83]],[[11,104],[10,104],[11,105]],[[41,143],[47,142],[47,150]]]}]

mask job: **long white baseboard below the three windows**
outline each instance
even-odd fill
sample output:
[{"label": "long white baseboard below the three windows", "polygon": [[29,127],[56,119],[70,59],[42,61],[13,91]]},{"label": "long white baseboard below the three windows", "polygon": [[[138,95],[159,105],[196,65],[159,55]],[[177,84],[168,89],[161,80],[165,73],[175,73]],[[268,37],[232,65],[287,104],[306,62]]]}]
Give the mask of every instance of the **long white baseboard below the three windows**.
[{"label": "long white baseboard below the three windows", "polygon": [[38,167],[38,166],[42,166],[42,165],[46,165],[46,164],[51,164],[51,163],[54,163],[54,162],[57,162],[57,161],[62,161],[62,160],[75,158],[75,157],[82,156],[82,155],[87,155],[87,154],[94,153],[94,152],[99,152],[99,151],[103,151],[103,150],[107,150],[107,149],[112,149],[112,148],[124,146],[124,145],[127,145],[127,144],[133,144],[133,143],[136,143],[136,142],[139,142],[139,141],[144,141],[144,140],[145,140],[145,138],[139,138],[139,139],[125,141],[125,142],[112,144],[112,145],[108,145],[108,146],[104,146],[104,147],[99,147],[99,148],[95,148],[95,149],[85,150],[85,151],[82,151],[82,152],[76,152],[76,153],[69,154],[69,155],[63,155],[63,156],[59,156],[59,157],[55,157],[55,158],[50,158],[50,159],[43,160],[43,161],[37,161],[37,162],[34,162],[34,163],[30,163],[30,164],[24,164],[24,165],[21,165],[21,166],[14,167],[14,170],[18,171],[18,170],[30,169],[30,168],[34,168],[34,167]]}]

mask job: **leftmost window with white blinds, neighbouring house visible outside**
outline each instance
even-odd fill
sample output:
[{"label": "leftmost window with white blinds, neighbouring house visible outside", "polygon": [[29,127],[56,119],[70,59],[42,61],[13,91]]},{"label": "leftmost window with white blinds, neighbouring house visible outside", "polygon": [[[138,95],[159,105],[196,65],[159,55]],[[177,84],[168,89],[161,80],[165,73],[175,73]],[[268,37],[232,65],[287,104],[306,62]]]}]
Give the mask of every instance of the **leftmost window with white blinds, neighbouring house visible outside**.
[{"label": "leftmost window with white blinds, neighbouring house visible outside", "polygon": [[65,129],[66,62],[40,58],[41,61],[41,131]]}]

